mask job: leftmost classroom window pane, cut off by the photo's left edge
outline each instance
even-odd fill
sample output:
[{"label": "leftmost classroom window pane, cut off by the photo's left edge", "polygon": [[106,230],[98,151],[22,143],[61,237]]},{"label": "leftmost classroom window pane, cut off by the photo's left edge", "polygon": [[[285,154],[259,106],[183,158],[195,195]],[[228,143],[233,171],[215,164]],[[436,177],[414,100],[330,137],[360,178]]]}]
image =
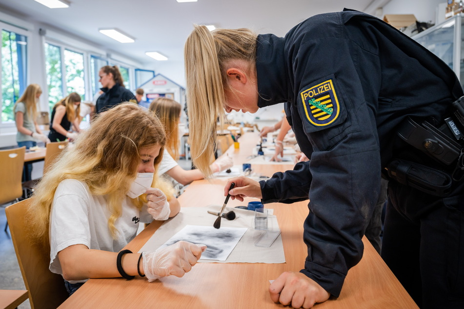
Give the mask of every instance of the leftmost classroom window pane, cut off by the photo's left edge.
[{"label": "leftmost classroom window pane, cut off by the photo's left edge", "polygon": [[27,87],[27,37],[1,31],[1,122],[15,120],[13,107]]}]

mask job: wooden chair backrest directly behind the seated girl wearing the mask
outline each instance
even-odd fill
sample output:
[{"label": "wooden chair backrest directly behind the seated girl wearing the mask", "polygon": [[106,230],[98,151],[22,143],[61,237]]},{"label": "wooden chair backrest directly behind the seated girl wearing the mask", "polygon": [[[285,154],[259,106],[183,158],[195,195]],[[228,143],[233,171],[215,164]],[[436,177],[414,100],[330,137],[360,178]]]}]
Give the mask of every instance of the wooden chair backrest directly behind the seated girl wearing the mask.
[{"label": "wooden chair backrest directly behind the seated girl wearing the mask", "polygon": [[6,218],[22,279],[29,291],[31,308],[57,308],[69,294],[61,275],[48,269],[50,249],[31,241],[27,235],[28,227],[24,222],[24,215],[32,199],[33,197],[6,207]]}]

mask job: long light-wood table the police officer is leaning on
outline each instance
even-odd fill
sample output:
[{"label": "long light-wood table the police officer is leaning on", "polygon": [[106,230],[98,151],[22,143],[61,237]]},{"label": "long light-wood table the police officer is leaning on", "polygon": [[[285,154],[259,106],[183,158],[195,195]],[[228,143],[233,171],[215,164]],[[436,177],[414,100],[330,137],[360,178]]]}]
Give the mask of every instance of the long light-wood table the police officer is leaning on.
[{"label": "long light-wood table the police officer is leaning on", "polygon": [[[250,149],[256,145],[256,138],[256,134],[245,134],[240,139],[240,149],[229,149],[235,164],[246,160]],[[284,164],[252,166],[268,176],[289,167]],[[182,207],[222,205],[225,182],[220,179],[195,181],[179,201]],[[228,206],[246,205],[249,200],[252,199],[229,200]],[[199,263],[182,278],[168,276],[152,283],[138,276],[131,281],[90,279],[60,308],[284,308],[271,301],[269,280],[276,279],[283,271],[303,268],[307,255],[303,221],[308,207],[306,201],[291,205],[271,203],[265,207],[274,209],[278,218],[285,263]],[[161,223],[150,224],[125,249],[139,251]],[[363,243],[363,258],[349,270],[340,297],[318,304],[316,308],[417,308],[365,237]]]}]

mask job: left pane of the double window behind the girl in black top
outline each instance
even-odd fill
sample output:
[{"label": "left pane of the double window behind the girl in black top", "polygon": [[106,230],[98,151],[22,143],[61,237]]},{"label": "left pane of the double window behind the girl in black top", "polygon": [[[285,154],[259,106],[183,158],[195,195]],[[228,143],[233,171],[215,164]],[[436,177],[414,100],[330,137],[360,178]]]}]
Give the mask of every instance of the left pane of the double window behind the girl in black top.
[{"label": "left pane of the double window behind the girl in black top", "polygon": [[51,112],[53,106],[63,97],[61,49],[59,46],[45,43],[45,69],[47,72],[48,106]]}]

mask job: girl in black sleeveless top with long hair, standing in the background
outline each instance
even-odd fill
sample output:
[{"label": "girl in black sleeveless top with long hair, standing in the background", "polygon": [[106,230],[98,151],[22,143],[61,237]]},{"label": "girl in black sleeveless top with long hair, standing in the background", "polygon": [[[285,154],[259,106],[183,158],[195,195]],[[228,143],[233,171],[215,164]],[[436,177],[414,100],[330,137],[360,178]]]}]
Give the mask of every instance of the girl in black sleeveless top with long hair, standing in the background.
[{"label": "girl in black sleeveless top with long hair, standing in the background", "polygon": [[[76,139],[81,132],[79,128],[81,112],[81,96],[70,93],[62,98],[52,110],[50,132],[48,138],[54,142],[63,141],[66,138]],[[75,132],[69,132],[73,128]]]}]

